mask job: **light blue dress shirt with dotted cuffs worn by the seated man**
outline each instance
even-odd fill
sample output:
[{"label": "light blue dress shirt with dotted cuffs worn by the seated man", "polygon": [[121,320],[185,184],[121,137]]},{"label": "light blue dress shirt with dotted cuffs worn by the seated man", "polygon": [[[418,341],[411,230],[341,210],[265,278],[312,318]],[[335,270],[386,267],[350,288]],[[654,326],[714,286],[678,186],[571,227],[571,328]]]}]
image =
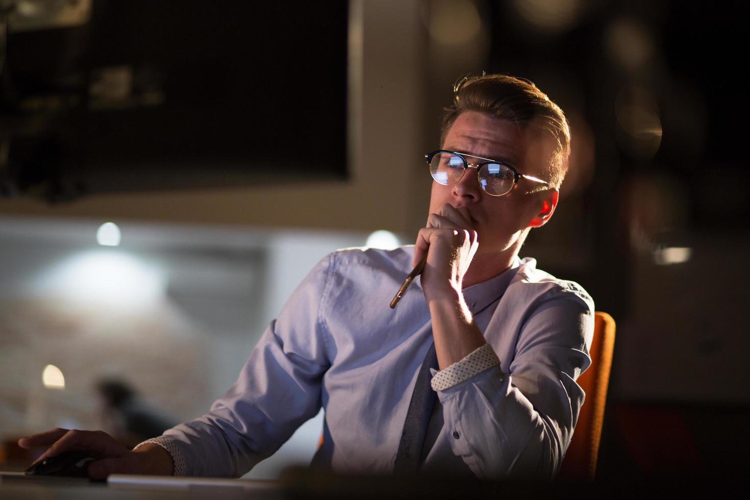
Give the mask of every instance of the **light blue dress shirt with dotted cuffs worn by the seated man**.
[{"label": "light blue dress shirt with dotted cuffs worn by the seated man", "polygon": [[[413,247],[348,249],[321,261],[211,410],[160,438],[185,475],[248,472],[325,409],[313,460],[341,473],[390,474],[416,376],[432,339]],[[500,364],[438,392],[422,470],[478,478],[551,478],[559,469],[590,364],[593,302],[534,259],[463,289]]]}]

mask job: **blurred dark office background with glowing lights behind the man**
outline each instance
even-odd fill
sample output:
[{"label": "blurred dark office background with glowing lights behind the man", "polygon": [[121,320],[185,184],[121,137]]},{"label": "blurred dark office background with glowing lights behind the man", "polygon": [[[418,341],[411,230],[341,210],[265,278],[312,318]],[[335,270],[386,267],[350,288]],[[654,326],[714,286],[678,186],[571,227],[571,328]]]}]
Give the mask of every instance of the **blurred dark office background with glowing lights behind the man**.
[{"label": "blurred dark office background with glowing lights behind the man", "polygon": [[521,254],[617,322],[599,477],[744,474],[748,7],[278,4],[0,0],[0,439],[100,427],[105,377],[204,412],[317,259],[413,241],[440,109],[484,70],[571,121]]}]

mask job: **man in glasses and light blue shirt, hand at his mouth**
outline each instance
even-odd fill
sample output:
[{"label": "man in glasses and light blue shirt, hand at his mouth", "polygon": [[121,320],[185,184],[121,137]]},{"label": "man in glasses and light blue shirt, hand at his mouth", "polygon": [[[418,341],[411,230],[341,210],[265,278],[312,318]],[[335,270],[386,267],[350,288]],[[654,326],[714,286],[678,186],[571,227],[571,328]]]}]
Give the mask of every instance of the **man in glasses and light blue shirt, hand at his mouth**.
[{"label": "man in glasses and light blue shirt, hand at his mouth", "polygon": [[[95,478],[239,476],[323,406],[314,465],[335,472],[553,477],[583,403],[574,381],[590,363],[593,304],[517,254],[557,205],[565,116],[524,80],[467,78],[441,142],[427,155],[434,182],[416,246],[323,259],[208,414],[134,451],[66,430],[20,445],[52,445],[43,457],[91,450]],[[421,279],[389,309],[424,256]]]}]

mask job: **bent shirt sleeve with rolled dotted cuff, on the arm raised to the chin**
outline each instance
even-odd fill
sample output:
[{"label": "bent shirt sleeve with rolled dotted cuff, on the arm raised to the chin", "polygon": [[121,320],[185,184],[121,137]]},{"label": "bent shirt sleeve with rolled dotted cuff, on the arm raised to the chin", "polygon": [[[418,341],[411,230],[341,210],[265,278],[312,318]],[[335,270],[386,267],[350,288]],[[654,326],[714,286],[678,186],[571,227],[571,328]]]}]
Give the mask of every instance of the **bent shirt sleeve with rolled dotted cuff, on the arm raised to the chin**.
[{"label": "bent shirt sleeve with rolled dotted cuff, on the arm raised to the chin", "polygon": [[452,451],[478,478],[553,478],[568,448],[590,364],[592,304],[556,290],[520,325],[515,356],[438,391]]}]

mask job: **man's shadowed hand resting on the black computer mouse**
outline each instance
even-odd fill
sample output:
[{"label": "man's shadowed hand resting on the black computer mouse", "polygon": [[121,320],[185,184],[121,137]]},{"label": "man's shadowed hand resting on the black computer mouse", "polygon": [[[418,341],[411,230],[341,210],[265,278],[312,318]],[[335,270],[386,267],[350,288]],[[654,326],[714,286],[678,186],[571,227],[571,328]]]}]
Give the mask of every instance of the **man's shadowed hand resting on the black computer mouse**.
[{"label": "man's shadowed hand resting on the black computer mouse", "polygon": [[172,457],[164,448],[148,444],[130,451],[101,430],[53,429],[21,438],[18,445],[49,447],[34,463],[65,451],[89,451],[98,459],[89,466],[92,479],[103,480],[110,474],[172,475]]}]

